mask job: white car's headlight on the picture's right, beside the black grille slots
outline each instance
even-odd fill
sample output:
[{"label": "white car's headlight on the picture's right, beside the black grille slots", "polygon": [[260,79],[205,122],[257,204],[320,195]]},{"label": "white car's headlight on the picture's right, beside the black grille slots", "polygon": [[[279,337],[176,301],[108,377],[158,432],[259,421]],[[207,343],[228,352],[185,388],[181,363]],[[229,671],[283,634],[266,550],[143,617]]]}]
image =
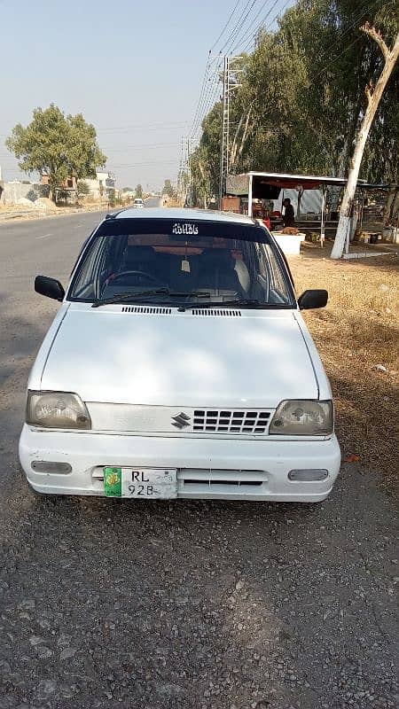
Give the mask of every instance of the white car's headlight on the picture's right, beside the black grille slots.
[{"label": "white car's headlight on the picture's right, beside the black grille slots", "polygon": [[280,436],[327,436],[333,430],[332,401],[281,401],[269,433]]}]

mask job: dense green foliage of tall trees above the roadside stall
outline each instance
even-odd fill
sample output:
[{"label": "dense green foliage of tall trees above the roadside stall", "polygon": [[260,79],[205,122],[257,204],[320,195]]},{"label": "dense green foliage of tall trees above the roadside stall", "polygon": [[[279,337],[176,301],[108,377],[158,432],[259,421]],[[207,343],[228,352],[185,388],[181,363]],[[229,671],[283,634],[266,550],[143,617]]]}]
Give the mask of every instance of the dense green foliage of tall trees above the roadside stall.
[{"label": "dense green foliage of tall trees above the roadside stall", "polygon": [[[368,20],[389,45],[399,26],[396,0],[298,0],[274,33],[262,31],[238,68],[231,93],[231,172],[248,169],[346,175],[367,105],[364,90],[383,65],[360,30]],[[234,80],[234,77],[233,77]],[[362,178],[398,181],[399,67],[387,84],[364,152]],[[217,194],[223,106],[202,123],[192,155],[198,204]]]}]

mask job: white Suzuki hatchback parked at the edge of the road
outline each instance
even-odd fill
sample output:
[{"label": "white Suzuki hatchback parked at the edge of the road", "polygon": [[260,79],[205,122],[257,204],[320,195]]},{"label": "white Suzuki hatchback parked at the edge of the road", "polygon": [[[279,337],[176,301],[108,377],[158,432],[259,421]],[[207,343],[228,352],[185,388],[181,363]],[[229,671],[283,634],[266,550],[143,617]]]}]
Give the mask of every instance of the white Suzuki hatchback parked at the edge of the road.
[{"label": "white Suzuki hatchback parked at the edge of the road", "polygon": [[311,503],[340,470],[332,393],[270,232],[133,209],[91,234],[30,373],[20,462],[39,493]]}]

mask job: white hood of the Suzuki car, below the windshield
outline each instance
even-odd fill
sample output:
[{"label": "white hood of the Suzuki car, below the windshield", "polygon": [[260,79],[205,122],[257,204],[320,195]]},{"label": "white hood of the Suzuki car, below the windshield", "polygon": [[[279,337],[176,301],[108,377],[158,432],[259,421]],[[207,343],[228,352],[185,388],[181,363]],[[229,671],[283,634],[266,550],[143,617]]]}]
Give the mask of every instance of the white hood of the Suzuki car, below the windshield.
[{"label": "white hood of the Suzuki car, below the windshield", "polygon": [[196,407],[274,408],[318,396],[293,310],[201,316],[126,309],[136,308],[71,304],[41,389],[78,393],[83,401]]}]

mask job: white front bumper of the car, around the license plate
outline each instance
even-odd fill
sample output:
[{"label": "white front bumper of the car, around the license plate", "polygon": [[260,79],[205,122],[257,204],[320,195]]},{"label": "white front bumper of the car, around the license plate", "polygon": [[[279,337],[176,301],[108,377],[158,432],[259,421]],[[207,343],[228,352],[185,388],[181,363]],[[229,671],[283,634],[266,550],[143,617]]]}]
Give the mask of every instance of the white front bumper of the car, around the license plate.
[{"label": "white front bumper of the car, around the license plate", "polygon": [[[68,463],[66,474],[36,472],[35,461]],[[328,440],[231,440],[37,431],[24,425],[20,463],[39,493],[104,496],[105,466],[176,468],[177,497],[319,502],[340,471],[340,446]],[[318,482],[288,479],[293,469],[325,469]]]}]

